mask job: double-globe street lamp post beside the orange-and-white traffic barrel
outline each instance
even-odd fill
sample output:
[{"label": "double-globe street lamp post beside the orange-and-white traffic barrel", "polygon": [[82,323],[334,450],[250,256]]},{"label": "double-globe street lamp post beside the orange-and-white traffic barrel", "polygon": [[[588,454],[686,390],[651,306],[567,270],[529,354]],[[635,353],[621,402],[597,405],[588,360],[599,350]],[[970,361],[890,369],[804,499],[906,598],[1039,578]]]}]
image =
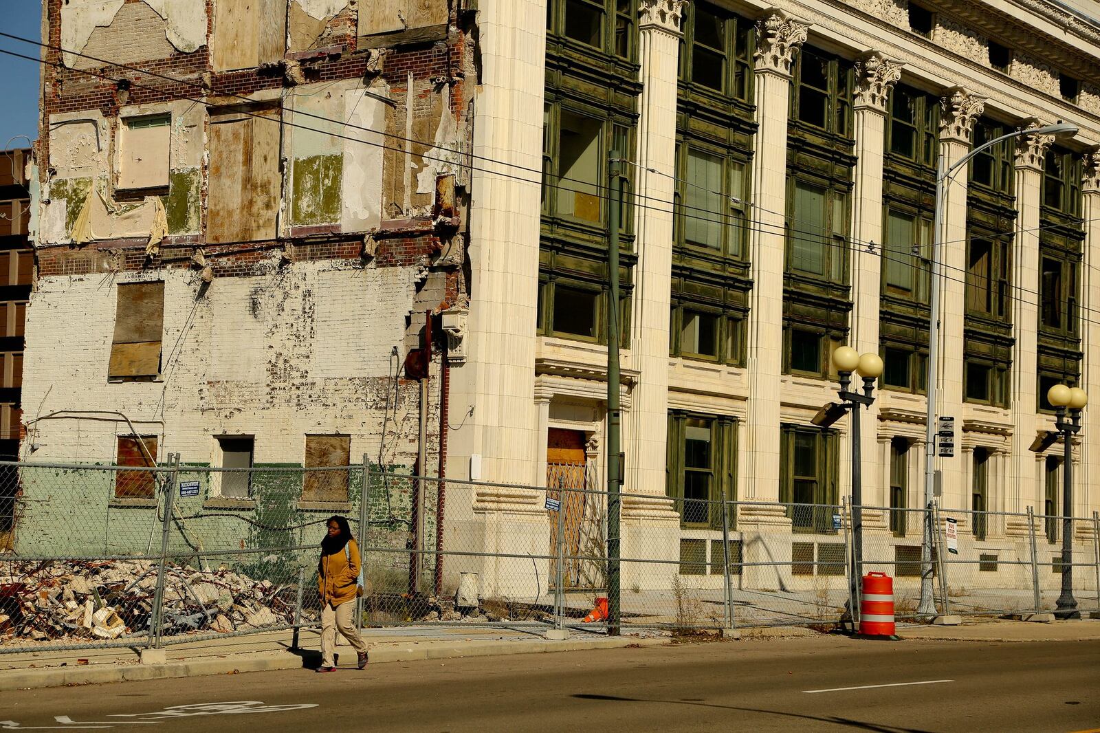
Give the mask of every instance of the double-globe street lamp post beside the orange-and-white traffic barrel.
[{"label": "double-globe street lamp post beside the orange-and-white traffic barrel", "polygon": [[[851,347],[840,347],[833,352],[833,365],[836,366],[840,381],[837,394],[844,402],[840,405],[826,405],[822,408],[814,424],[824,427],[847,412],[851,416],[851,562],[849,567],[849,593],[854,603],[859,603],[860,581],[864,577],[864,494],[862,494],[862,457],[860,407],[870,407],[875,402],[875,380],[882,374],[882,359],[877,353],[860,355]],[[851,389],[853,373],[864,378],[862,394]],[[853,617],[856,609],[849,609]]]}]

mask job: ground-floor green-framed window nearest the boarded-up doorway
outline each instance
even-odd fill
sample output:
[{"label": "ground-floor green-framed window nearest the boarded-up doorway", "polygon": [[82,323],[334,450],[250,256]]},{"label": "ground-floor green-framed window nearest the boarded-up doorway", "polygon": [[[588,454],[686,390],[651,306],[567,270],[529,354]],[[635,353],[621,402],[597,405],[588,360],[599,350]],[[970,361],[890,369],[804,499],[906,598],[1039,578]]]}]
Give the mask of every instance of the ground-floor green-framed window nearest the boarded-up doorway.
[{"label": "ground-floor green-framed window nearest the boarded-up doorway", "polygon": [[[730,416],[669,413],[666,491],[685,528],[722,528],[723,502],[737,496],[737,420]],[[705,554],[705,553],[704,553]]]}]

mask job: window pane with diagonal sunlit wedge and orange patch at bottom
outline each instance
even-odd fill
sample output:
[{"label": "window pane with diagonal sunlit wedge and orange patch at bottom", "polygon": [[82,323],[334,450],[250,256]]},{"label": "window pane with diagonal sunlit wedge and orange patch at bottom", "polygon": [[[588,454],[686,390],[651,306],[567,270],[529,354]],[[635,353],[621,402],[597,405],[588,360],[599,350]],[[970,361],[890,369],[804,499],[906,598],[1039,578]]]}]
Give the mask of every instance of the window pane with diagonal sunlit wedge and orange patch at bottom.
[{"label": "window pane with diagonal sunlit wedge and orange patch at bottom", "polygon": [[600,136],[603,122],[562,111],[558,214],[586,221],[600,216]]}]

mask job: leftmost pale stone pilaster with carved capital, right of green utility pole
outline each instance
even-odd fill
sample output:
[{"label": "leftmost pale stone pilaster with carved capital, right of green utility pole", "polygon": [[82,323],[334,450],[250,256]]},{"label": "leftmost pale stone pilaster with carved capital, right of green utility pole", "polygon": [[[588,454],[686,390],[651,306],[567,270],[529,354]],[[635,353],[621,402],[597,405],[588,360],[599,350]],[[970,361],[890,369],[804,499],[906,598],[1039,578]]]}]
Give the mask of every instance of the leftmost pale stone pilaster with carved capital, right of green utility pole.
[{"label": "leftmost pale stone pilaster with carved capital, right of green utility pole", "polygon": [[[638,120],[638,264],[631,322],[634,389],[625,491],[664,495],[669,396],[672,198],[676,81],[684,0],[641,0],[641,116]],[[652,173],[651,171],[657,171]],[[667,204],[662,204],[666,201]],[[631,502],[624,500],[624,512]]]}]

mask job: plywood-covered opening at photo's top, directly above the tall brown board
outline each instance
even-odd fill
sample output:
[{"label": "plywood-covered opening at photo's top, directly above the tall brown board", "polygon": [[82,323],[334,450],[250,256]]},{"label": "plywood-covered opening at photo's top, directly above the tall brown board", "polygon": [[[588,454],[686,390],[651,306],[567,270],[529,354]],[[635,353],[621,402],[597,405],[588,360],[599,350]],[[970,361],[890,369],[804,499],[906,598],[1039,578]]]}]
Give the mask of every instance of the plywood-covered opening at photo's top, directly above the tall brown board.
[{"label": "plywood-covered opening at photo's top, directly above the tall brown board", "polygon": [[216,72],[283,61],[286,0],[222,0],[215,3],[213,13],[210,50]]}]

